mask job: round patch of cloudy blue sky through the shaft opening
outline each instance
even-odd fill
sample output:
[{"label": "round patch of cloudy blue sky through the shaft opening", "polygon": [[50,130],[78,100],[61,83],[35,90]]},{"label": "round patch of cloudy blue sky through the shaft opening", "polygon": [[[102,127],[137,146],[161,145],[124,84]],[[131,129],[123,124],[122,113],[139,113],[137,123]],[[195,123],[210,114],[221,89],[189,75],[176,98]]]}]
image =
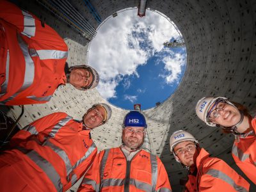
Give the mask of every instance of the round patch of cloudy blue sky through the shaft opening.
[{"label": "round patch of cloudy blue sky through the shaft opening", "polygon": [[100,75],[97,90],[123,109],[156,106],[168,99],[186,68],[186,50],[164,47],[178,38],[177,29],[156,12],[127,10],[111,17],[97,31],[88,52],[88,64]]}]

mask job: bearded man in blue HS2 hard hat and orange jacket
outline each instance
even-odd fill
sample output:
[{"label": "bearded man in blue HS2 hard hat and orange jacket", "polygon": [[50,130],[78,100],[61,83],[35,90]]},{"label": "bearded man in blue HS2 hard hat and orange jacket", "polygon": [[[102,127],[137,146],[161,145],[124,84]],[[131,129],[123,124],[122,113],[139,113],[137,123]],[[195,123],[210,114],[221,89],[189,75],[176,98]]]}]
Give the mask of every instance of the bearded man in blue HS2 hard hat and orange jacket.
[{"label": "bearded man in blue HS2 hard hat and orange jacket", "polygon": [[130,111],[122,124],[122,145],[101,151],[78,191],[172,191],[159,157],[142,150],[147,124]]}]

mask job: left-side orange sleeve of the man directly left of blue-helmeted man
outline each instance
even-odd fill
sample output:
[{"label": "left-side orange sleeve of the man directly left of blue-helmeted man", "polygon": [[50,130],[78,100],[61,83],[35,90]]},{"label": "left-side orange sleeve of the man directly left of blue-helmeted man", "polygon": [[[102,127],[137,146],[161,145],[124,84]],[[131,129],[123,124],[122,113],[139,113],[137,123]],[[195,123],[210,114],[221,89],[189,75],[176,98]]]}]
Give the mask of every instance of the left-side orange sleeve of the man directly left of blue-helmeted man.
[{"label": "left-side orange sleeve of the man directly left of blue-helmeted man", "polygon": [[38,132],[45,131],[46,133],[49,133],[52,131],[52,127],[54,125],[58,125],[60,120],[63,120],[67,117],[69,116],[66,113],[52,113],[50,115],[44,116],[17,132],[11,139],[10,144],[15,146],[20,143],[20,141],[24,141],[30,136],[38,134]]}]

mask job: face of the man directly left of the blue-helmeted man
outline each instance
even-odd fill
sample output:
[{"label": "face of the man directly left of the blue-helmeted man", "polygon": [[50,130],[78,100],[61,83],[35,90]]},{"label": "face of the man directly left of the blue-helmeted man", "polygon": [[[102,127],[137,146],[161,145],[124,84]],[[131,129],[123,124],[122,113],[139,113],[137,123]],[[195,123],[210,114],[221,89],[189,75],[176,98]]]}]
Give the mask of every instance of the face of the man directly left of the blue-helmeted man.
[{"label": "face of the man directly left of the blue-helmeted man", "polygon": [[97,106],[91,109],[86,116],[84,116],[83,121],[86,127],[93,129],[102,124],[104,120],[105,110],[104,108]]}]

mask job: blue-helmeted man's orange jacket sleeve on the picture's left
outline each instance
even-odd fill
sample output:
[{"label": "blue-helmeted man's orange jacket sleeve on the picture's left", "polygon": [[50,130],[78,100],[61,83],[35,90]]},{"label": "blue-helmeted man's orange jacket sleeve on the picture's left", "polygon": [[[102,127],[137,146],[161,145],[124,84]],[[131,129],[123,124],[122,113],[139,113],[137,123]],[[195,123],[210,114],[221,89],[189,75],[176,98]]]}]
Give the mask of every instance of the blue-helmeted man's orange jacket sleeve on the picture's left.
[{"label": "blue-helmeted man's orange jacket sleeve on the picture's left", "polygon": [[95,157],[92,166],[85,173],[83,182],[81,182],[81,186],[77,191],[83,192],[92,192],[99,190],[100,186],[100,162],[104,155],[105,150],[102,150],[97,156]]}]

